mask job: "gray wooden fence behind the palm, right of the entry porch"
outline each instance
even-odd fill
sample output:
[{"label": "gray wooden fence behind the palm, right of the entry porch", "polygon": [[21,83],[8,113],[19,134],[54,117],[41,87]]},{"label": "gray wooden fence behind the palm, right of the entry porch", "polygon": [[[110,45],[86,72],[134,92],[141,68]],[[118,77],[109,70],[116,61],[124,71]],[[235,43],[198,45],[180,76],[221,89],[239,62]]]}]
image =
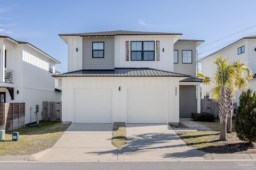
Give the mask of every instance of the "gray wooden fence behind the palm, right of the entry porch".
[{"label": "gray wooden fence behind the palm, right of the entry porch", "polygon": [[213,99],[201,99],[201,113],[212,113],[219,117],[219,103]]}]

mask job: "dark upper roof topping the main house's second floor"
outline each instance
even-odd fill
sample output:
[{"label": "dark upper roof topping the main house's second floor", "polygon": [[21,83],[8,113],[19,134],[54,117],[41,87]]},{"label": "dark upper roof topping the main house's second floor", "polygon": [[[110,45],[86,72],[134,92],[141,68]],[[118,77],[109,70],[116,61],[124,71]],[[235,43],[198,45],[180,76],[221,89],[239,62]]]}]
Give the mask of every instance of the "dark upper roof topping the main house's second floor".
[{"label": "dark upper roof topping the main house's second floor", "polygon": [[59,36],[128,36],[128,35],[182,35],[182,33],[171,32],[145,32],[145,31],[102,31],[102,32],[84,32],[84,33],[67,33]]}]

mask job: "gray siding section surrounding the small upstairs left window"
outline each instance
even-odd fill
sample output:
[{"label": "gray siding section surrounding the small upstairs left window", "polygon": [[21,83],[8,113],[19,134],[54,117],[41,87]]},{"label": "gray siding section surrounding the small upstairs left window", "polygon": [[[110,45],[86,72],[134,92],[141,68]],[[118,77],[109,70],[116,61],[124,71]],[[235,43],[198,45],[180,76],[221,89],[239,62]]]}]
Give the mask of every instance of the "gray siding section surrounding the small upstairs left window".
[{"label": "gray siding section surrounding the small upstairs left window", "polygon": [[[105,57],[92,58],[92,42],[105,42]],[[114,37],[83,37],[83,69],[114,69]]]}]

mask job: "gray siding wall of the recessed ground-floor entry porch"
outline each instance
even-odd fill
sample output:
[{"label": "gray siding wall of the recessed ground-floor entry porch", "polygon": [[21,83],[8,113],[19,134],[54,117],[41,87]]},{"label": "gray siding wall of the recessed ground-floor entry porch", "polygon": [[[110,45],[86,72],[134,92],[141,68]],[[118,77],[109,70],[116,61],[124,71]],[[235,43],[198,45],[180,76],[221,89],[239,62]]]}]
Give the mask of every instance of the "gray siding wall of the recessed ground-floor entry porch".
[{"label": "gray siding wall of the recessed ground-floor entry porch", "polygon": [[180,85],[180,117],[196,113],[196,86]]}]

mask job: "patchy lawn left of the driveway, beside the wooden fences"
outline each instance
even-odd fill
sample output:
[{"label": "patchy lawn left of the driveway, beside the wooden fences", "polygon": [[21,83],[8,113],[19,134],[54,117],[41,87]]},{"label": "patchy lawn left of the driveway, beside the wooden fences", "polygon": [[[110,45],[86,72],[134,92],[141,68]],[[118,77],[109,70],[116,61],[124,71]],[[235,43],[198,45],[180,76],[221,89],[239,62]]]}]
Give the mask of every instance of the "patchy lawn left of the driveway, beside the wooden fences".
[{"label": "patchy lawn left of the driveway, beside the wooden fences", "polygon": [[51,148],[67,130],[69,124],[61,122],[40,122],[37,127],[14,130],[20,133],[20,141],[12,141],[12,132],[5,134],[5,141],[0,142],[0,155],[31,155]]}]

